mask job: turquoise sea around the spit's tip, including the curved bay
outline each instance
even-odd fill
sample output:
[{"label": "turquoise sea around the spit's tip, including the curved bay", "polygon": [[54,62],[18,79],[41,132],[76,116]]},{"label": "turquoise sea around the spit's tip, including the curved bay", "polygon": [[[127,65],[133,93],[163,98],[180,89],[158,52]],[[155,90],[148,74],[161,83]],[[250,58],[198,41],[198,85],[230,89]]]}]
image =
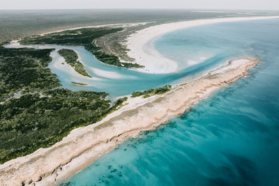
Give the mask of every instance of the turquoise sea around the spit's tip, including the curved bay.
[{"label": "turquoise sea around the spit's tip, including the curved bay", "polygon": [[[186,69],[241,56],[262,61],[248,77],[128,139],[64,183],[279,185],[279,20],[197,26],[167,33],[154,45]],[[172,82],[186,72],[164,76]]]}]

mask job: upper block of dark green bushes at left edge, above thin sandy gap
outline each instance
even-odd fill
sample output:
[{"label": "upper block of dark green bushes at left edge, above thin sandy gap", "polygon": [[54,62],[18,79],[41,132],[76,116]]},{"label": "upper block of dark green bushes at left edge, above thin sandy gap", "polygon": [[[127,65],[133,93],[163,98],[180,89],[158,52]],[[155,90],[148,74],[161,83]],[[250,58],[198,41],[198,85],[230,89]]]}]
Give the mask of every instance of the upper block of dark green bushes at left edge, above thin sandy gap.
[{"label": "upper block of dark green bushes at left edge, above thin sandy gap", "polygon": [[14,93],[38,92],[61,86],[47,64],[52,49],[7,49],[0,46],[0,102]]}]

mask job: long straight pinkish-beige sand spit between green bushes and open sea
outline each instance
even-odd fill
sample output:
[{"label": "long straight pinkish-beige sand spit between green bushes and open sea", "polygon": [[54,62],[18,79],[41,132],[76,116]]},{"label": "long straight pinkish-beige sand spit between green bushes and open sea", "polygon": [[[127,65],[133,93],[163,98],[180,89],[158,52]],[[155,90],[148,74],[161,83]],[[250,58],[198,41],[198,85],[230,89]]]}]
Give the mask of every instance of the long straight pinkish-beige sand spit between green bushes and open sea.
[{"label": "long straight pinkish-beige sand spit between green bushes and open sea", "polygon": [[246,76],[259,59],[235,59],[209,75],[148,99],[129,98],[103,121],[80,127],[50,148],[0,165],[0,185],[54,185],[141,131],[153,130],[219,88]]}]

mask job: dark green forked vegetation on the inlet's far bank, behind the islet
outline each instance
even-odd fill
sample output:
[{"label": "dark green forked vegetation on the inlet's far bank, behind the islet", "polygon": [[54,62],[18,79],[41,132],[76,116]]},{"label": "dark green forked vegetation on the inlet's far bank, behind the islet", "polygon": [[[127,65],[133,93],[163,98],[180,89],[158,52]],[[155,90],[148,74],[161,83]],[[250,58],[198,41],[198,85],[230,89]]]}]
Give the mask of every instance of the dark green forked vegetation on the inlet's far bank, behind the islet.
[{"label": "dark green forked vegetation on the inlet's far bank, behind the islet", "polygon": [[80,45],[84,46],[89,52],[91,52],[96,59],[99,61],[115,65],[120,68],[142,68],[142,65],[137,63],[122,63],[119,61],[117,56],[111,54],[105,54],[100,51],[99,47],[93,43],[96,38],[100,38],[109,33],[115,33],[122,31],[121,28],[90,28],[90,29],[77,29],[62,31],[59,33],[50,33],[45,36],[38,36],[34,38],[24,38],[20,40],[20,44],[31,45],[31,44],[52,44],[52,45]]}]

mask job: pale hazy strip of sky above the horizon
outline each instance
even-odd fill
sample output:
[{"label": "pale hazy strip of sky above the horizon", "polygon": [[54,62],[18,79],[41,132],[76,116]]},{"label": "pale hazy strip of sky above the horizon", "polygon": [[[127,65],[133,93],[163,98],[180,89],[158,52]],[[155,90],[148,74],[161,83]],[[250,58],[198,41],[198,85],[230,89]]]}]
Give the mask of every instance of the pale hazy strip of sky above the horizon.
[{"label": "pale hazy strip of sky above the horizon", "polygon": [[205,8],[279,10],[279,0],[1,0],[0,9]]}]

